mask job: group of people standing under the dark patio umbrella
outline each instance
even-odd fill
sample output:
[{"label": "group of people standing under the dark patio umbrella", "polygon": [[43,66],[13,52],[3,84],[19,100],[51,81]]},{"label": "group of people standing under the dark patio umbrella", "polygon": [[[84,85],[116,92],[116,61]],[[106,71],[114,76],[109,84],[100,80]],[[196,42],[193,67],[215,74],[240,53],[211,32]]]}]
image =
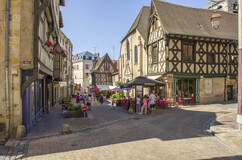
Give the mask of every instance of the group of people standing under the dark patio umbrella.
[{"label": "group of people standing under the dark patio umbrella", "polygon": [[[151,111],[151,115],[155,113],[155,104],[157,101],[157,97],[153,94],[153,92],[150,92],[150,95],[145,95],[143,100],[140,99],[140,96],[138,95],[136,98],[136,111],[140,111],[140,114],[147,114],[147,109],[149,108]],[[141,106],[141,108],[140,108]]]}]

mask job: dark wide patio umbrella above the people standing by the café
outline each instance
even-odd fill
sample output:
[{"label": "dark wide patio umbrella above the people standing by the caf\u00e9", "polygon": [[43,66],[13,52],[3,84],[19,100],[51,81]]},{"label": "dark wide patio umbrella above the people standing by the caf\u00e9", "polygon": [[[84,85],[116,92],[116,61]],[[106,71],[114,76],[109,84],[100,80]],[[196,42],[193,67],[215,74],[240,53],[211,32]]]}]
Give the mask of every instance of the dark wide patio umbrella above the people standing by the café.
[{"label": "dark wide patio umbrella above the people standing by the caf\u00e9", "polygon": [[152,87],[152,86],[165,86],[165,83],[157,81],[157,80],[149,79],[149,78],[144,77],[144,76],[139,76],[139,77],[136,77],[134,80],[121,85],[120,88],[131,88],[131,87],[134,87],[136,85],[142,85],[142,86],[145,86],[145,87]]}]

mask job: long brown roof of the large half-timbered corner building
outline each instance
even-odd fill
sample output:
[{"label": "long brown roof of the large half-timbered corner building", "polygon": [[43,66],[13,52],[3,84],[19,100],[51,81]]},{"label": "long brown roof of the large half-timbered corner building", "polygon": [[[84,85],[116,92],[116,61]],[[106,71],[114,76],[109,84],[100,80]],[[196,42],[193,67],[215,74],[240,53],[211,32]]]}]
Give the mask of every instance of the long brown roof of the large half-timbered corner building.
[{"label": "long brown roof of the large half-timbered corner building", "polygon": [[[213,10],[180,6],[159,0],[153,0],[153,2],[167,34],[238,39],[238,16],[236,14],[218,11],[222,18],[220,27],[215,30],[210,22]],[[199,25],[202,28],[199,28]]]}]

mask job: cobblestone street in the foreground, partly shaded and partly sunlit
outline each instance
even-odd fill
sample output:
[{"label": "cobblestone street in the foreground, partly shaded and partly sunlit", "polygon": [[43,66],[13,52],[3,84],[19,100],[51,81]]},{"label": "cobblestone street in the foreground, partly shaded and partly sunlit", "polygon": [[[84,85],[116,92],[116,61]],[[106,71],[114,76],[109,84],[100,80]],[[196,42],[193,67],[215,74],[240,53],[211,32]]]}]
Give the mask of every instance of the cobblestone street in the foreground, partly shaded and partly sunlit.
[{"label": "cobblestone street in the foreground, partly shaded and partly sunlit", "polygon": [[[130,117],[113,121],[108,110]],[[241,159],[241,153],[203,132],[207,120],[235,110],[234,104],[200,105],[140,116],[110,106],[93,108],[91,119],[100,114],[99,122],[113,123],[30,140],[25,159]]]}]

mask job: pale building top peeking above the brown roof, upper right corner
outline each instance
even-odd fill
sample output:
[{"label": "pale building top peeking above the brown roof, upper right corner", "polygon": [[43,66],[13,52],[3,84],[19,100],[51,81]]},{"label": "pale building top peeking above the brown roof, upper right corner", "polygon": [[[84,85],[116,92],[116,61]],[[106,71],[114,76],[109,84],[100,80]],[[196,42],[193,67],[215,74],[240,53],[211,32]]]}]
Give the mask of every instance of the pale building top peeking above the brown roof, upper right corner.
[{"label": "pale building top peeking above the brown roof, upper right corner", "polygon": [[205,8],[238,13],[238,0],[207,0]]}]

